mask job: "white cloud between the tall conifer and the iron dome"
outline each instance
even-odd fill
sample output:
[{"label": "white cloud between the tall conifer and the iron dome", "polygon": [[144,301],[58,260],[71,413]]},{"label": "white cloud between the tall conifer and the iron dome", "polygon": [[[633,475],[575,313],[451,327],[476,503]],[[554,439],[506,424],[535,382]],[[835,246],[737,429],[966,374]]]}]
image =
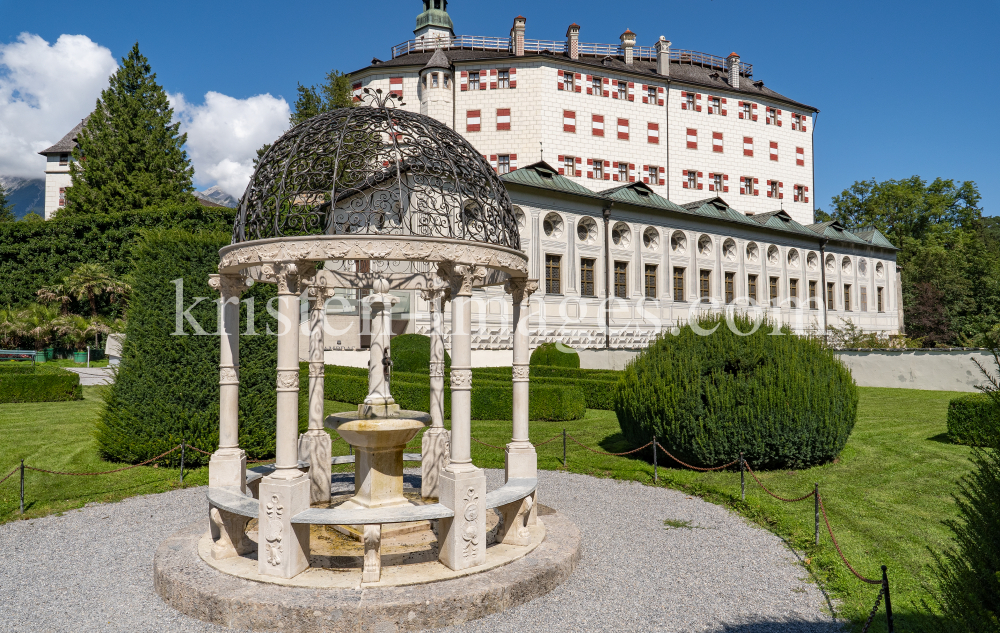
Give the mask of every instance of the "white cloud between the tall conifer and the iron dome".
[{"label": "white cloud between the tall conifer and the iron dome", "polygon": [[217,184],[239,198],[253,174],[257,149],[275,141],[288,129],[291,109],[284,99],[269,94],[247,99],[209,92],[203,105],[184,95],[170,95],[170,103],[188,135],[187,151],[199,187]]}]

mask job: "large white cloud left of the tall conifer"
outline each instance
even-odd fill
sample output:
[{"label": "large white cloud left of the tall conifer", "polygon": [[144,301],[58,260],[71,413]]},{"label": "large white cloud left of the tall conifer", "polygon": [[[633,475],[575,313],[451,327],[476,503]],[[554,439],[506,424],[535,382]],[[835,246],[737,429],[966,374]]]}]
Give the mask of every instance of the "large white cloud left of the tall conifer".
[{"label": "large white cloud left of the tall conifer", "polygon": [[0,174],[42,177],[45,159],[37,152],[93,110],[117,67],[111,51],[85,35],[49,44],[22,33],[0,43]]}]

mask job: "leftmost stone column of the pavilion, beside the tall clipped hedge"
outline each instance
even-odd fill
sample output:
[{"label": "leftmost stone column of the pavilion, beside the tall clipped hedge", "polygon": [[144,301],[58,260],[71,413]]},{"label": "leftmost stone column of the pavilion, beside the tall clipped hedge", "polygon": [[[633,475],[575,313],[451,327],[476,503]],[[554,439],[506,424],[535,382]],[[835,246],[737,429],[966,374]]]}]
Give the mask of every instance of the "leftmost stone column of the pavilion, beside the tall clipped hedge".
[{"label": "leftmost stone column of the pavilion, beside the tall clipped hedge", "polygon": [[219,450],[208,463],[208,485],[246,493],[246,452],[240,448],[240,295],[242,275],[210,275],[208,285],[222,296],[219,324]]}]

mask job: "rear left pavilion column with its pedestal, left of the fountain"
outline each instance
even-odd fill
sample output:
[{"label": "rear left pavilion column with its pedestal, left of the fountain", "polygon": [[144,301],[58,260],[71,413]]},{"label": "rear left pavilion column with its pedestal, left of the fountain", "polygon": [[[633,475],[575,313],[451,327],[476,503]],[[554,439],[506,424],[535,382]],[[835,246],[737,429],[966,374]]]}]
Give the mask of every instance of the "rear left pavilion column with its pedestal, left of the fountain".
[{"label": "rear left pavilion column with its pedestal, left of the fountain", "polygon": [[309,430],[299,436],[299,461],[309,462],[312,503],[330,501],[332,439],[323,427],[323,380],[326,363],[326,302],[334,289],[325,278],[309,286]]}]

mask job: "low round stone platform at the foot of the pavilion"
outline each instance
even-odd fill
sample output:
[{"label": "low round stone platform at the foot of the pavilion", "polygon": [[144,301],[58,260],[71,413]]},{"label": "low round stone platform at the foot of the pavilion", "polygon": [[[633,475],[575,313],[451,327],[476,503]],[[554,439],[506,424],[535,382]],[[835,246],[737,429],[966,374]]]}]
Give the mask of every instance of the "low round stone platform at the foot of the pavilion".
[{"label": "low round stone platform at the foot of the pavilion", "polygon": [[[509,546],[494,545],[487,549],[484,571],[450,572],[434,563],[455,576],[439,576],[446,579],[430,583],[408,584],[396,578],[395,582],[361,585],[360,569],[340,572],[357,578],[329,583],[338,588],[319,588],[301,580],[296,583],[300,586],[286,586],[238,578],[203,560],[199,548],[204,546],[206,536],[204,521],[175,533],[160,545],[153,560],[153,583],[160,597],[178,611],[232,628],[387,633],[461,624],[544,595],[576,568],[581,548],[579,530],[555,510],[543,505],[538,509],[544,529],[538,530],[540,542],[526,555],[504,564],[504,559],[512,557],[510,552],[503,553]],[[496,550],[493,558],[500,561],[492,566],[490,550]],[[230,560],[234,565],[250,562]],[[252,566],[256,568],[255,560]],[[309,576],[313,571],[336,573],[309,570],[300,576]],[[383,576],[387,571],[383,567]]]}]

